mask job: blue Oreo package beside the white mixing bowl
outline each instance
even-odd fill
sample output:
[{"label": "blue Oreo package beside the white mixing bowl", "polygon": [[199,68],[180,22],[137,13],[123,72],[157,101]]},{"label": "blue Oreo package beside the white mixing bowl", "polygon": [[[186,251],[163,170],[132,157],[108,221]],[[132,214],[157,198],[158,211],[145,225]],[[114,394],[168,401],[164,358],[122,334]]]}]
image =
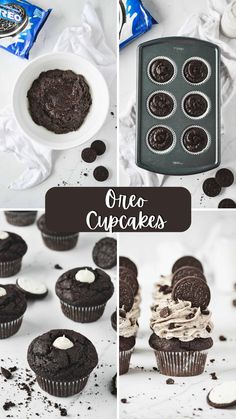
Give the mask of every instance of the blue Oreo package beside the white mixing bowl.
[{"label": "blue Oreo package beside the white mixing bowl", "polygon": [[0,48],[21,58],[29,52],[51,9],[24,0],[0,0]]}]

